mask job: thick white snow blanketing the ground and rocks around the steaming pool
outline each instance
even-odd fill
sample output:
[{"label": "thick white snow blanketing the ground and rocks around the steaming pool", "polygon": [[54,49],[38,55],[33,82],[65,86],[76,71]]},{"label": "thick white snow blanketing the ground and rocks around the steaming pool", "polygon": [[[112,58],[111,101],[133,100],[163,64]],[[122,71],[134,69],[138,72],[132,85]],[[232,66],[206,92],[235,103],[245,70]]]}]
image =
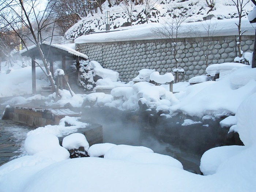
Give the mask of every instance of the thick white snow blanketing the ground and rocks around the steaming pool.
[{"label": "thick white snow blanketing the ground and rocks around the steaming pool", "polygon": [[[237,63],[210,65],[207,68],[209,74],[220,74],[216,82],[205,81],[206,78],[199,78],[202,83],[194,85],[180,82],[174,84],[174,91],[179,92],[173,94],[166,89],[165,84],[156,86],[147,81],[124,84],[113,82],[116,79],[108,80],[109,71],[104,74],[104,69],[95,62],[93,61],[94,65],[98,66],[96,73],[103,74],[101,81],[107,82],[105,86],[115,84],[112,86],[115,88],[111,94],[76,94],[71,97],[68,91],[63,91],[63,97],[58,101],[60,105],[69,102],[74,107],[81,107],[83,103],[88,103],[87,107],[94,105],[136,110],[140,101],[148,106],[147,110],[156,108],[158,111],[169,111],[168,115],[164,114],[167,118],[175,115],[177,111],[203,119],[220,114],[235,114],[237,122],[232,117],[227,118],[222,124],[233,125],[232,130],[239,133],[245,146],[224,146],[208,150],[203,155],[200,165],[204,176],[187,172],[176,159],[154,153],[146,147],[106,143],[90,146],[88,151],[92,157],[69,159],[67,149],[74,146],[84,146],[88,149],[89,146],[86,138],[80,135],[67,138],[65,148],[59,145],[57,136],[65,135],[67,131],[75,132],[80,126],[75,118],[66,118],[60,125],[48,125],[27,134],[24,146],[29,155],[14,159],[0,167],[0,191],[255,190],[256,122],[253,114],[256,112],[256,69]],[[21,83],[21,79],[30,82],[30,72],[31,67],[16,67],[9,74],[2,73],[0,78],[4,77],[4,82],[7,82],[5,86],[10,82],[7,87],[12,87],[14,82],[20,82],[19,89],[27,90],[27,84]],[[37,75],[39,74],[38,71]],[[144,78],[149,81],[153,78],[159,83],[169,82],[173,78],[154,74],[154,70],[143,70],[140,75],[138,79]],[[18,78],[19,81],[14,78]],[[42,82],[47,83],[44,80]],[[18,94],[15,89],[8,89],[8,95],[11,93]],[[31,90],[26,93],[31,93]],[[1,95],[7,93],[1,89]],[[10,102],[24,103],[38,98],[44,97],[17,97]],[[55,103],[52,101],[46,104],[50,106]],[[64,127],[65,120],[72,125],[71,128]],[[183,124],[192,123],[200,122],[188,119]],[[48,142],[45,143],[45,140]],[[97,154],[104,155],[104,158],[97,158]]]}]

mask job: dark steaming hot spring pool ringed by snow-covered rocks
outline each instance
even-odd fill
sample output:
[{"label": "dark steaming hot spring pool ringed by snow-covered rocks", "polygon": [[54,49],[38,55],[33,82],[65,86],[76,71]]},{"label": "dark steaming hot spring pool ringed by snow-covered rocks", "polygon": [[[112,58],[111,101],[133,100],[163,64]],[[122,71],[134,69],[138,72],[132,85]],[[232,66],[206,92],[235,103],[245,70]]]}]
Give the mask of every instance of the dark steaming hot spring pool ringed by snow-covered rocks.
[{"label": "dark steaming hot spring pool ringed by snow-covered rocks", "polygon": [[[148,118],[140,112],[121,112],[112,108],[80,108],[82,121],[103,126],[103,143],[145,146],[155,153],[178,159],[185,170],[200,174],[200,158],[204,151],[226,145],[228,129],[219,121],[181,126],[181,117]],[[152,117],[152,116],[149,116]],[[180,121],[178,123],[178,121]]]}]

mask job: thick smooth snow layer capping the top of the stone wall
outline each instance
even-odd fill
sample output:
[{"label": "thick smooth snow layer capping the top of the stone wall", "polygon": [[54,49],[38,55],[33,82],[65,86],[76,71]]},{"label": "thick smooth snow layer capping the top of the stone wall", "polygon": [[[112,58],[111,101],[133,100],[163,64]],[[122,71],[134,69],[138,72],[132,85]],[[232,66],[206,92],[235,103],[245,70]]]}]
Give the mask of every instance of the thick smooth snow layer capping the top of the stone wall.
[{"label": "thick smooth snow layer capping the top of the stone wall", "polygon": [[[207,31],[204,29],[204,26],[207,25],[209,21],[202,22],[191,22],[191,23],[181,23],[180,30],[188,31],[188,29],[197,29],[198,33],[202,34],[202,37],[207,37]],[[216,36],[222,35],[238,35],[238,30],[235,23],[238,23],[238,18],[233,19],[223,19],[223,20],[213,20],[211,25],[216,24]],[[148,23],[138,26],[127,27],[127,30],[121,30],[120,27],[117,30],[121,31],[112,31],[109,33],[95,33],[90,35],[82,35],[75,39],[76,44],[83,43],[92,43],[92,42],[114,42],[114,41],[135,41],[135,40],[146,40],[146,39],[155,39],[157,38],[152,29],[162,27],[164,22],[161,23]],[[254,35],[255,29],[248,22],[247,18],[242,18],[241,22],[241,31],[248,30],[246,35]],[[221,31],[221,32],[219,32]],[[218,33],[217,33],[218,32]],[[189,36],[195,36],[191,33]],[[179,38],[187,37],[187,34],[180,34]]]}]

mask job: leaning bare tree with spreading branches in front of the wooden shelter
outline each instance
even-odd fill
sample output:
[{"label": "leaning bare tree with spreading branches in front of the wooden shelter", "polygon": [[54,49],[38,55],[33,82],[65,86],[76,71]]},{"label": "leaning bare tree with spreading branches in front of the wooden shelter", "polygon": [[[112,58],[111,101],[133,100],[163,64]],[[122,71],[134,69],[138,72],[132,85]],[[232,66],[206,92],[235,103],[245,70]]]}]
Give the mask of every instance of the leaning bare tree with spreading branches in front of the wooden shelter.
[{"label": "leaning bare tree with spreading branches in front of the wooden shelter", "polygon": [[[13,6],[12,3],[15,3]],[[52,42],[52,35],[50,37],[43,38],[43,31],[48,28],[48,26],[53,24],[52,34],[54,31],[54,20],[50,19],[52,15],[52,9],[49,8],[49,2],[46,4],[46,7],[43,11],[38,10],[38,1],[35,0],[15,0],[5,1],[4,10],[1,11],[0,17],[4,20],[5,25],[10,28],[10,31],[17,35],[23,42],[25,48],[28,50],[28,44],[33,43],[39,53],[40,59],[44,65],[44,71],[46,77],[49,79],[51,86],[53,87],[54,92],[56,92],[56,87],[54,86],[53,76],[50,73],[48,63],[46,61],[47,54],[43,53],[41,49],[42,42],[48,40]],[[18,9],[17,9],[18,8]],[[19,11],[22,10],[23,14],[20,14]],[[8,12],[12,12],[12,15],[6,15]],[[33,23],[35,24],[33,26]],[[24,26],[25,30],[21,29],[21,24]],[[37,63],[35,61],[35,63]],[[41,67],[41,66],[39,66]]]}]

